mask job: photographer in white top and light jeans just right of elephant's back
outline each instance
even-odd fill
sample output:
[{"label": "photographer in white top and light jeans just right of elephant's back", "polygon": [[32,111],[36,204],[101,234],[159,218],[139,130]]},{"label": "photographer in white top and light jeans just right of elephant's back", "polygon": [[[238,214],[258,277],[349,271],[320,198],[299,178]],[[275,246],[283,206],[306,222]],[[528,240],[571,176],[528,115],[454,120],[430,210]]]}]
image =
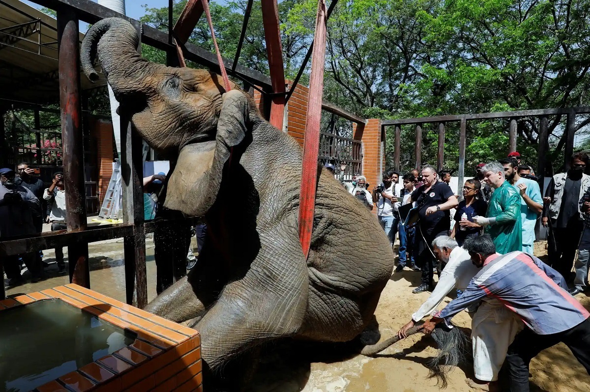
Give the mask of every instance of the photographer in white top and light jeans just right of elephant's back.
[{"label": "photographer in white top and light jeans just right of elephant's back", "polygon": [[383,182],[373,188],[373,202],[377,203],[377,218],[389,238],[389,245],[394,246],[399,222],[398,198],[395,197],[395,184],[399,174],[389,169],[383,172],[382,179]]}]

